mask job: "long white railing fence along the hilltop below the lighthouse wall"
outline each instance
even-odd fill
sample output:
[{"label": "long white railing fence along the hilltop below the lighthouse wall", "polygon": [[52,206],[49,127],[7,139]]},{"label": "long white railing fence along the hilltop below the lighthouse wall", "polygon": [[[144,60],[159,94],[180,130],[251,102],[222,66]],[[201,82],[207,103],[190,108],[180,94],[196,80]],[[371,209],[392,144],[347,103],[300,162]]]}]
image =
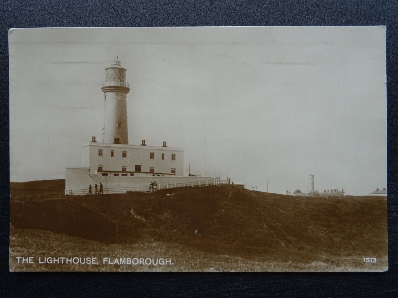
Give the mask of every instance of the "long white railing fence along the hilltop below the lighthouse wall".
[{"label": "long white railing fence along the hilltop below the lighthouse wall", "polygon": [[203,186],[211,186],[211,185],[221,185],[221,184],[229,184],[229,180],[220,180],[220,179],[206,179],[199,181],[191,181],[191,182],[182,182],[182,183],[167,183],[167,184],[158,184],[148,185],[148,186],[132,186],[132,187],[109,187],[103,188],[103,191],[100,190],[100,185],[98,185],[97,190],[95,186],[92,187],[91,193],[88,188],[86,189],[68,189],[65,190],[66,195],[74,195],[74,196],[82,196],[82,195],[100,195],[100,194],[123,194],[127,192],[154,192],[161,189],[169,189],[176,187],[203,187]]}]

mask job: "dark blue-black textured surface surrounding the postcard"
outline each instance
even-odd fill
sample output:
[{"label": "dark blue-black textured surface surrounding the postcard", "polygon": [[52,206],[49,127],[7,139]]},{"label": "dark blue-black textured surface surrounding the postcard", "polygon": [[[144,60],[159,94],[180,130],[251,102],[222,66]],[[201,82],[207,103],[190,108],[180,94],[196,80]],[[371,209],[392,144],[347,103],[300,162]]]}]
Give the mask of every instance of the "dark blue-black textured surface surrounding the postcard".
[{"label": "dark blue-black textured surface surrounding the postcard", "polygon": [[[13,0],[0,5],[0,297],[393,297],[397,275],[398,1]],[[387,26],[387,273],[9,273],[9,28],[123,26]],[[27,144],[28,147],[28,144]]]}]

